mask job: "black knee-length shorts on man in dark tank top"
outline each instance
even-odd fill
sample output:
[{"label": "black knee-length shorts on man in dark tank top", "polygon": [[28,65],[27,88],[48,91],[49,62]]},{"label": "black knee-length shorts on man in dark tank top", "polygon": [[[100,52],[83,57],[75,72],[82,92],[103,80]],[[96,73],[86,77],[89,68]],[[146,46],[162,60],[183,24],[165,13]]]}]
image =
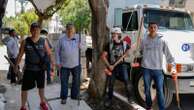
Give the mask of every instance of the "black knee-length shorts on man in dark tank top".
[{"label": "black knee-length shorts on man in dark tank top", "polygon": [[30,90],[33,89],[35,86],[37,86],[37,88],[39,89],[44,88],[44,82],[44,71],[25,70],[22,81],[22,90]]}]

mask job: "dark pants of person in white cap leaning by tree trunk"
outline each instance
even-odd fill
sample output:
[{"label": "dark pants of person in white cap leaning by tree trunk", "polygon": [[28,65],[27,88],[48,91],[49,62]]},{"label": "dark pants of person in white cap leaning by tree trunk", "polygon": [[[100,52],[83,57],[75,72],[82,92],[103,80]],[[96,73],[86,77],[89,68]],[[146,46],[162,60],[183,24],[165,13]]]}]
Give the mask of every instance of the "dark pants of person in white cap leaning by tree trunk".
[{"label": "dark pants of person in white cap leaning by tree trunk", "polygon": [[133,86],[129,80],[129,75],[128,75],[128,65],[127,64],[119,64],[117,65],[113,71],[112,71],[112,76],[108,76],[109,78],[109,87],[108,87],[108,98],[109,100],[112,100],[113,97],[113,90],[114,90],[114,83],[116,78],[119,77],[124,82],[125,85],[125,92],[127,95],[127,98],[131,98],[133,95]]}]

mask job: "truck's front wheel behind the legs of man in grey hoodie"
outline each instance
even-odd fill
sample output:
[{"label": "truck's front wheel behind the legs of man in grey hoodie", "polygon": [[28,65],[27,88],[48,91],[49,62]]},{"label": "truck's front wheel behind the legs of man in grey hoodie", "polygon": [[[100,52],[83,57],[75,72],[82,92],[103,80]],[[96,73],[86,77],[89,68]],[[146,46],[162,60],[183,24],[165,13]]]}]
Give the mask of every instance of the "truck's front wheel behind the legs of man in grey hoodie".
[{"label": "truck's front wheel behind the legs of man in grey hoodie", "polygon": [[[145,94],[144,94],[144,82],[143,82],[143,75],[142,73],[139,73],[135,77],[135,96],[138,101],[138,103],[142,106],[146,106],[145,104]],[[153,105],[157,104],[157,97],[156,97],[156,87],[154,85],[154,81],[151,83],[151,96],[152,96],[152,102]],[[173,93],[168,88],[168,85],[166,82],[164,82],[164,97],[165,97],[165,107],[167,108],[173,99]]]}]

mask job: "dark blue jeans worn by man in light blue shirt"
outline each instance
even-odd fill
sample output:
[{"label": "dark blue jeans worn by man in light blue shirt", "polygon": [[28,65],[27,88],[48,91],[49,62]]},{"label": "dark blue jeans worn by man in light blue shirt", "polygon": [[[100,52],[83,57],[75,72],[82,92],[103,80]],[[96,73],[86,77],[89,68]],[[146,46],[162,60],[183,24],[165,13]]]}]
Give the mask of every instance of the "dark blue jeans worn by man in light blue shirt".
[{"label": "dark blue jeans worn by man in light blue shirt", "polygon": [[72,74],[71,98],[78,99],[80,91],[81,65],[74,68],[61,68],[61,99],[67,99],[68,97],[68,81],[70,73]]}]

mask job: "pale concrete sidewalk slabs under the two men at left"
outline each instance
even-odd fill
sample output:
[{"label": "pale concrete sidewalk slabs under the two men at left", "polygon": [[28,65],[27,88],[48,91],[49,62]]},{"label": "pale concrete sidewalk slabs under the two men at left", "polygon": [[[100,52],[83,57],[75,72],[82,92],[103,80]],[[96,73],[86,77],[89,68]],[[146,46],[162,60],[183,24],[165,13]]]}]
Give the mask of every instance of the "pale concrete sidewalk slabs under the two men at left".
[{"label": "pale concrete sidewalk slabs under the two men at left", "polygon": [[[7,92],[4,94],[7,103],[5,104],[4,110],[19,110],[20,107],[20,86],[11,86],[9,84],[3,84],[7,88]],[[58,99],[60,93],[60,85],[53,84],[46,86],[45,97],[50,106],[49,110],[92,110],[84,100],[80,101],[80,106],[78,106],[77,100],[68,99],[67,104],[61,105],[60,99]],[[28,108],[29,110],[40,110],[39,108],[39,97],[37,89],[29,91],[28,94]]]}]

